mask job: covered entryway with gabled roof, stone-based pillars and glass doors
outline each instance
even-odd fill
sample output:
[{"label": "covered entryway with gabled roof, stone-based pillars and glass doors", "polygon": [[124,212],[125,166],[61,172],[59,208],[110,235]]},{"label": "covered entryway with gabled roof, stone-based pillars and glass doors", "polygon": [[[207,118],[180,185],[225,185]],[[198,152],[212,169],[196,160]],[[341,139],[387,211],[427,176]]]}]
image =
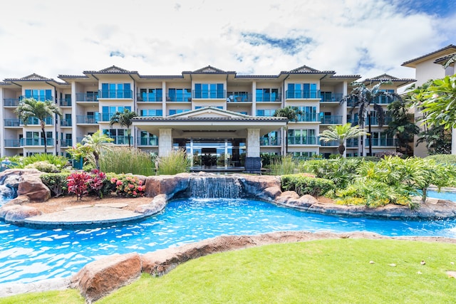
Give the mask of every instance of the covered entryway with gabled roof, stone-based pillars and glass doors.
[{"label": "covered entryway with gabled roof, stone-based pillars and glass doors", "polygon": [[158,136],[158,154],[182,149],[193,167],[259,171],[260,137],[280,130],[284,117],[254,117],[206,107],[168,117],[135,117],[133,125]]}]

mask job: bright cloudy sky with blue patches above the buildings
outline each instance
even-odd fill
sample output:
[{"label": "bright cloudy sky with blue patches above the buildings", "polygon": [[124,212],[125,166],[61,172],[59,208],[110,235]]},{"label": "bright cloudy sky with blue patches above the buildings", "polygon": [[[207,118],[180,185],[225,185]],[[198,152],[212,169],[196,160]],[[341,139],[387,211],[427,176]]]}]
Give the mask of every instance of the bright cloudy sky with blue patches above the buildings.
[{"label": "bright cloudy sky with blue patches above the buildings", "polygon": [[277,75],[414,78],[401,66],[456,45],[454,0],[16,0],[0,4],[0,80],[117,65],[181,75],[212,65]]}]

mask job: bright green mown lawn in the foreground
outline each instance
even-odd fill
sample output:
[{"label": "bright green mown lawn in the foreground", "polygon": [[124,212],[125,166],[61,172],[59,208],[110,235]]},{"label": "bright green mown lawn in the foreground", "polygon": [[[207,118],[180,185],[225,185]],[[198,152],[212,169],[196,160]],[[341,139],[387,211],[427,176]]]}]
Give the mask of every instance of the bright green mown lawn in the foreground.
[{"label": "bright green mown lawn in the foreground", "polygon": [[[261,246],[198,258],[159,278],[142,275],[97,303],[456,303],[456,280],[445,273],[456,270],[455,250],[368,239]],[[63,303],[38,295],[0,303]],[[68,295],[64,303],[83,300]]]}]

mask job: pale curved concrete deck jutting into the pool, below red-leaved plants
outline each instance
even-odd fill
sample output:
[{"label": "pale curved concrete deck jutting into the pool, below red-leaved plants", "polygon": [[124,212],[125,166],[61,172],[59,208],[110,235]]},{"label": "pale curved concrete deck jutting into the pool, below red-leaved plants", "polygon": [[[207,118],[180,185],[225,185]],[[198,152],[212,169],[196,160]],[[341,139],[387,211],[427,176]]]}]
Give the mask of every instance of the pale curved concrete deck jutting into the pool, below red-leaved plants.
[{"label": "pale curved concrete deck jutting into the pool, below red-leaved plants", "polygon": [[125,221],[137,221],[147,215],[120,209],[125,204],[95,204],[71,207],[64,211],[41,214],[24,219],[24,226],[32,228],[77,228],[90,225],[107,225]]}]

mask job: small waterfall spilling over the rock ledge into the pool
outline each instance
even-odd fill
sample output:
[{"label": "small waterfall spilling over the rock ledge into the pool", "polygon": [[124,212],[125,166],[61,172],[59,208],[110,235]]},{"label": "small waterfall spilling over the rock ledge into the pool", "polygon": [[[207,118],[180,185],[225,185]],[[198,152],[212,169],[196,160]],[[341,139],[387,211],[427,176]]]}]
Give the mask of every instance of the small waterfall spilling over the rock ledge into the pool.
[{"label": "small waterfall spilling over the rock ledge into the pool", "polygon": [[190,197],[237,199],[240,192],[241,184],[233,177],[192,177],[190,179]]}]

